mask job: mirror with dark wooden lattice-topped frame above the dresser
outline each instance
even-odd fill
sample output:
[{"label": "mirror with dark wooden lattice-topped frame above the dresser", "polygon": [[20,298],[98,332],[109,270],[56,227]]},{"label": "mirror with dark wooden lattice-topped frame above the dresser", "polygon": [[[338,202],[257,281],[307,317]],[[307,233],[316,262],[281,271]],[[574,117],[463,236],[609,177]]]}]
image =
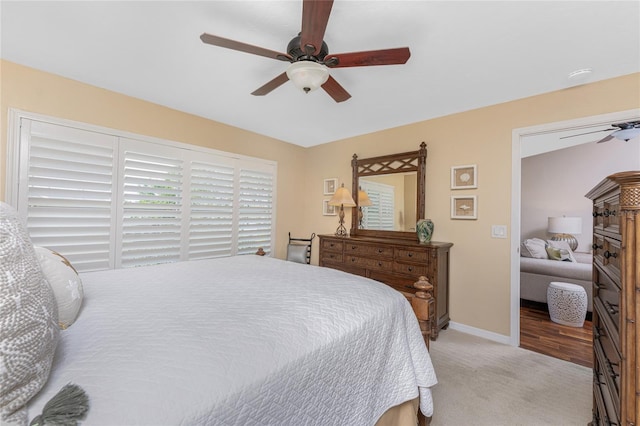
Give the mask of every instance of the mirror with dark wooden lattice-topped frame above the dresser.
[{"label": "mirror with dark wooden lattice-topped frame above the dresser", "polygon": [[427,144],[417,151],[361,158],[353,154],[351,235],[417,239],[424,219]]}]

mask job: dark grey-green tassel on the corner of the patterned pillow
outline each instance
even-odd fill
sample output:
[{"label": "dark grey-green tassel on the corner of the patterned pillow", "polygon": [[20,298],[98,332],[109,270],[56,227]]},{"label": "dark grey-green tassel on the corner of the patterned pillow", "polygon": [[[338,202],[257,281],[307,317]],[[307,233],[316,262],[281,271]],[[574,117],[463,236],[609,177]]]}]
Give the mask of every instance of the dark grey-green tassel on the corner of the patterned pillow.
[{"label": "dark grey-green tassel on the corner of the patterned pillow", "polygon": [[76,426],[89,411],[89,397],[78,385],[69,383],[49,400],[30,426]]}]

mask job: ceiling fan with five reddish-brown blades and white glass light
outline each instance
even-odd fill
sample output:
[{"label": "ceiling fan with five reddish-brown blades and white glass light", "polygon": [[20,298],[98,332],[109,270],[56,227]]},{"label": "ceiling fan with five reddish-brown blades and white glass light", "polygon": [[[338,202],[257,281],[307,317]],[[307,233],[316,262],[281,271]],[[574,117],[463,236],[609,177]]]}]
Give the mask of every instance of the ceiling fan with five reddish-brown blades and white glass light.
[{"label": "ceiling fan with five reddish-brown blades and white glass light", "polygon": [[[235,40],[203,33],[200,39],[214,46],[265,56],[290,62],[285,72],[252,92],[264,96],[291,80],[304,92],[322,87],[336,102],[346,101],[351,95],[329,75],[328,68],[366,67],[372,65],[404,64],[411,52],[408,47],[329,54],[324,33],[329,21],[333,0],[304,0],[302,3],[302,29],[287,46],[287,53],[276,52]],[[328,67],[328,68],[327,68]]]}]

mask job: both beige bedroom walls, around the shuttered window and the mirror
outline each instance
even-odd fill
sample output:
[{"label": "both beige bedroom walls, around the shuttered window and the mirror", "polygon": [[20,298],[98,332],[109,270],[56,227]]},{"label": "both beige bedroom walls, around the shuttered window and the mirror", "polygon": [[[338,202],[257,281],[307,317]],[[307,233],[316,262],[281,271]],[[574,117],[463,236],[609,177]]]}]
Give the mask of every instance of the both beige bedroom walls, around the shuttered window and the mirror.
[{"label": "both beige bedroom walls, around the shuttered window and the mirror", "polygon": [[[323,179],[350,188],[350,161],[417,150],[427,143],[426,216],[434,240],[454,243],[451,252],[451,318],[509,335],[509,239],[492,239],[492,224],[510,225],[511,137],[514,128],[640,107],[640,74],[575,87],[515,102],[427,120],[303,149],[255,133],[138,99],[0,62],[0,199],[4,199],[9,107],[207,146],[278,162],[277,257],[287,232],[332,233],[336,216],[322,215]],[[449,218],[450,167],[478,165],[478,220]],[[300,198],[300,194],[305,194]],[[347,227],[351,223],[347,213]],[[317,264],[317,239],[313,262]]]}]

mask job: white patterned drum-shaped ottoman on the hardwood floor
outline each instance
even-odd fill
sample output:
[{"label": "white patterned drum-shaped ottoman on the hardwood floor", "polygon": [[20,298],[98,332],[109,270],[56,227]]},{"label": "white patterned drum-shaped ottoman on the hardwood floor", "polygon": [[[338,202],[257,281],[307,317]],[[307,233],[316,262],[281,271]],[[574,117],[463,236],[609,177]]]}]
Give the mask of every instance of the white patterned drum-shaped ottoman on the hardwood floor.
[{"label": "white patterned drum-shaped ottoman on the hardwood floor", "polygon": [[551,282],[547,288],[547,304],[551,321],[571,327],[582,327],[587,315],[587,292],[582,286]]}]

